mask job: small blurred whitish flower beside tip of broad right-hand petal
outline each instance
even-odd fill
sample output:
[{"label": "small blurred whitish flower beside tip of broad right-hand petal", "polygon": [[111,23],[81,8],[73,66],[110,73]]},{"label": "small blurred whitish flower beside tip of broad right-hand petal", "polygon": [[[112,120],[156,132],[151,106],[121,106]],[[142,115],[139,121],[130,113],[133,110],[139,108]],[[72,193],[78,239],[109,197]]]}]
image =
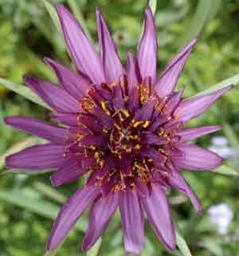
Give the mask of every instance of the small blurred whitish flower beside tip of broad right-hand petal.
[{"label": "small blurred whitish flower beside tip of broad right-hand petal", "polygon": [[229,147],[229,141],[223,136],[214,137],[209,149],[225,159],[233,155],[233,148]]}]

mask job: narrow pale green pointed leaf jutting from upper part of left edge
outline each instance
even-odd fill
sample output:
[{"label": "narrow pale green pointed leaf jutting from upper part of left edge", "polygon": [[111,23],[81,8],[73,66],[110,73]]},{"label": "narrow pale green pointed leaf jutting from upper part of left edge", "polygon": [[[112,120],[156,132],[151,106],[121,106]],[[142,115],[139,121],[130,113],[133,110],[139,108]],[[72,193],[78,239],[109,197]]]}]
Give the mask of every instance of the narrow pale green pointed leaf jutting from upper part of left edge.
[{"label": "narrow pale green pointed leaf jutting from upper part of left edge", "polygon": [[13,91],[14,93],[18,93],[21,96],[24,96],[26,99],[33,101],[41,105],[44,108],[51,109],[45,102],[43,102],[35,93],[33,93],[29,88],[23,85],[17,85],[12,81],[8,81],[6,79],[0,78],[0,84]]}]

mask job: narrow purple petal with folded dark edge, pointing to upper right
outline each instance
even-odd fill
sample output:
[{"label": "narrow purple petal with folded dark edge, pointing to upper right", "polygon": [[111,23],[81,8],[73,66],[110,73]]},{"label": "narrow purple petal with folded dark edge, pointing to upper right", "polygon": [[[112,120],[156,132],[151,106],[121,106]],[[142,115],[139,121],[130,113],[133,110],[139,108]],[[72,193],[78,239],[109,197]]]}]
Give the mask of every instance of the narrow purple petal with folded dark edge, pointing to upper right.
[{"label": "narrow purple petal with folded dark edge, pointing to upper right", "polygon": [[186,47],[182,49],[180,53],[178,53],[177,57],[174,57],[174,59],[170,62],[170,65],[163,72],[162,76],[159,77],[159,80],[155,85],[155,91],[159,97],[164,98],[173,92],[175,86],[177,85],[178,77],[182,73],[186,60],[190,56],[190,53],[197,41],[197,38],[190,41],[189,45],[186,45]]}]

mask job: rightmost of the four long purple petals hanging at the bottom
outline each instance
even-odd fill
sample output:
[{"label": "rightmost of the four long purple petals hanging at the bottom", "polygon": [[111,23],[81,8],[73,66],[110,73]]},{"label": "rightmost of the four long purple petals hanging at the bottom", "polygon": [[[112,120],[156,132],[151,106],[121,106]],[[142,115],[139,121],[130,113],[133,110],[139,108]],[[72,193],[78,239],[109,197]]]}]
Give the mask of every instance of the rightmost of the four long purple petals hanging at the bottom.
[{"label": "rightmost of the four long purple petals hanging at the bottom", "polygon": [[175,250],[175,230],[165,192],[159,184],[153,184],[151,193],[141,198],[149,222],[155,234],[168,250]]}]

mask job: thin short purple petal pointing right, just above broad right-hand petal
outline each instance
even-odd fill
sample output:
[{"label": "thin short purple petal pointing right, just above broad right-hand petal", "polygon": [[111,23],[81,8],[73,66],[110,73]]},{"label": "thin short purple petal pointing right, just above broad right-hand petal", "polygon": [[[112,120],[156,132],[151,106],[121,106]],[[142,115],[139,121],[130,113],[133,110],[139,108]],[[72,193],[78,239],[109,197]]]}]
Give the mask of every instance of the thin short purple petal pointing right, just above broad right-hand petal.
[{"label": "thin short purple petal pointing right, just above broad right-hand petal", "polygon": [[204,126],[199,128],[182,128],[175,133],[176,136],[180,136],[180,140],[195,140],[198,137],[205,136],[206,134],[220,131],[221,127],[214,125],[214,126]]}]

